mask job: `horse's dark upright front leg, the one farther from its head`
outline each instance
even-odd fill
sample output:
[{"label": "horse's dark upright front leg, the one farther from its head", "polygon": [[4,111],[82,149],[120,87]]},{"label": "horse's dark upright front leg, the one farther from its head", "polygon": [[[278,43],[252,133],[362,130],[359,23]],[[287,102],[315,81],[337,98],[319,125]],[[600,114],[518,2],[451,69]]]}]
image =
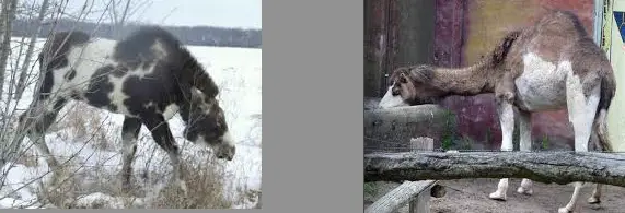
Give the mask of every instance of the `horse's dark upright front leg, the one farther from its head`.
[{"label": "horse's dark upright front leg, the one farther from its head", "polygon": [[121,126],[121,188],[125,192],[129,192],[130,177],[132,175],[132,159],[137,152],[137,138],[141,130],[141,120],[132,117],[125,117]]}]

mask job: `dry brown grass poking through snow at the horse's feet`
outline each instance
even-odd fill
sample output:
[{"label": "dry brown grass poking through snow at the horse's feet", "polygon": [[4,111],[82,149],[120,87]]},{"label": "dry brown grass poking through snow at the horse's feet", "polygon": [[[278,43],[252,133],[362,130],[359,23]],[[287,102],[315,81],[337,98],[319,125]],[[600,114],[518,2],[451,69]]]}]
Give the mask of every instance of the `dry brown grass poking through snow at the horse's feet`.
[{"label": "dry brown grass poking through snow at the horse's feet", "polygon": [[[112,194],[116,199],[121,199],[124,208],[149,208],[149,209],[229,209],[232,203],[225,200],[223,194],[223,175],[210,159],[197,162],[195,156],[187,156],[183,159],[183,174],[188,188],[188,197],[175,187],[167,185],[155,196],[155,198],[141,198],[146,196],[143,189],[150,186],[135,188],[129,194],[123,192],[119,179],[116,174],[103,167],[90,167],[80,174],[76,173],[78,165],[66,165],[61,175],[57,178],[57,184],[43,185],[37,191],[37,196],[43,203],[49,203],[60,209],[107,209],[113,204],[109,200],[94,200],[92,203],[78,204],[80,197],[94,192]],[[206,157],[201,157],[206,158]],[[163,168],[171,168],[165,162],[159,165]],[[86,175],[85,175],[86,174]],[[152,178],[170,179],[171,174],[151,174]],[[89,178],[91,185],[85,185]],[[146,189],[149,190],[149,189]],[[240,200],[250,199],[256,192],[243,193]],[[139,199],[137,198],[139,197]],[[247,198],[250,197],[250,198]],[[149,206],[144,205],[144,199],[150,199]],[[138,201],[140,200],[140,201]],[[137,204],[141,202],[141,204]]]}]

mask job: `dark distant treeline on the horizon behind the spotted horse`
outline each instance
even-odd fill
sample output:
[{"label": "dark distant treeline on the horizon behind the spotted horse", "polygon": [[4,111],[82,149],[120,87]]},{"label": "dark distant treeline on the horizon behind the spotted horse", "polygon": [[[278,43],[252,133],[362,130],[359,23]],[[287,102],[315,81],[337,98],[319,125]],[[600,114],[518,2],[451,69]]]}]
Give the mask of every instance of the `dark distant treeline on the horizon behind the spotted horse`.
[{"label": "dark distant treeline on the horizon behind the spotted horse", "polygon": [[[25,20],[13,22],[13,36],[28,36],[36,28],[35,25]],[[120,36],[134,32],[140,24],[127,23],[119,29]],[[261,29],[223,28],[212,26],[163,26],[174,34],[181,42],[194,46],[217,46],[217,47],[246,47],[261,48]],[[39,37],[46,37],[54,28],[58,31],[78,29],[92,33],[97,37],[115,39],[115,27],[106,23],[76,22],[73,20],[57,20],[55,23],[44,22]]]}]

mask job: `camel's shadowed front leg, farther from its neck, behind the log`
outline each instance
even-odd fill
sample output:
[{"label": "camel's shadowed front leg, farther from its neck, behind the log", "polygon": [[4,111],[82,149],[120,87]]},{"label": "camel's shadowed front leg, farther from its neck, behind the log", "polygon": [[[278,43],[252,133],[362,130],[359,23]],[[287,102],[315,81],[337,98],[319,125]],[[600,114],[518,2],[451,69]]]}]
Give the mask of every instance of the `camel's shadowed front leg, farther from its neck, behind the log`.
[{"label": "camel's shadowed front leg, farther from its neck, behind the log", "polygon": [[[532,150],[532,114],[524,110],[519,110],[519,150],[528,152]],[[524,194],[532,194],[532,180],[523,178],[521,186],[517,192]]]}]

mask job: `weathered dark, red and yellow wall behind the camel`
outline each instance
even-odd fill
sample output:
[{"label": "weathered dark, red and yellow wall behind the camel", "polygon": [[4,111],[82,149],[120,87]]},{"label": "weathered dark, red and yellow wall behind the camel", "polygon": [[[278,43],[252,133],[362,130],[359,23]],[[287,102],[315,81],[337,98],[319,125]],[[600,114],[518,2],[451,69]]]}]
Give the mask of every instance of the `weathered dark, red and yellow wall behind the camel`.
[{"label": "weathered dark, red and yellow wall behind the camel", "polygon": [[[488,54],[507,32],[532,24],[545,9],[572,11],[600,43],[600,38],[610,34],[610,29],[603,29],[612,23],[611,8],[618,3],[613,0],[366,0],[364,99],[381,98],[389,86],[387,74],[401,66],[472,64]],[[611,49],[610,44],[601,44],[606,51]],[[617,68],[615,71],[621,72]],[[617,81],[618,84],[623,80]],[[614,103],[622,99],[623,96],[616,95]],[[467,149],[499,149],[501,132],[491,94],[453,96],[441,105],[453,114],[454,141],[471,141],[472,146]],[[572,149],[572,127],[567,118],[566,110],[534,114],[533,141],[539,143],[534,147],[541,146],[540,141],[548,141],[548,149]],[[623,119],[611,118],[610,122],[618,120]],[[436,130],[426,128],[419,133],[439,134],[429,131]],[[439,134],[435,145],[440,147],[441,141]]]}]

